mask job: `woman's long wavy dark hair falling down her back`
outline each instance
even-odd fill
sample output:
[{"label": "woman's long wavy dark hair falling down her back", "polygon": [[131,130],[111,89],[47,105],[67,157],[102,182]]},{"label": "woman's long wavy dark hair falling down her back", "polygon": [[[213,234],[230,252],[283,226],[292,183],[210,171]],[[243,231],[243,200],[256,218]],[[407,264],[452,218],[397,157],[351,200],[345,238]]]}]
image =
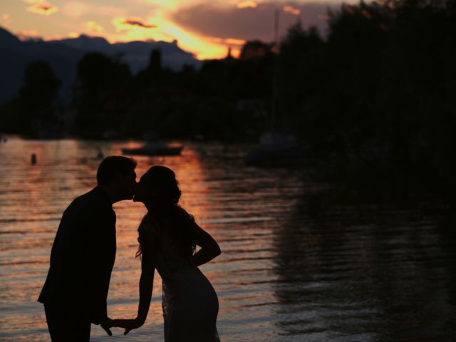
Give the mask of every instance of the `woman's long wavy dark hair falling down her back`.
[{"label": "woman's long wavy dark hair falling down her back", "polygon": [[[179,205],[182,192],[175,173],[168,167],[154,165],[150,167],[146,175],[149,177],[149,181],[159,189],[147,215],[155,218],[160,229],[171,229],[172,237],[180,247],[182,256],[190,259],[196,249],[190,229],[190,224],[195,222],[195,218]],[[140,237],[138,237],[138,242],[139,248],[136,257],[140,257],[142,254]]]}]

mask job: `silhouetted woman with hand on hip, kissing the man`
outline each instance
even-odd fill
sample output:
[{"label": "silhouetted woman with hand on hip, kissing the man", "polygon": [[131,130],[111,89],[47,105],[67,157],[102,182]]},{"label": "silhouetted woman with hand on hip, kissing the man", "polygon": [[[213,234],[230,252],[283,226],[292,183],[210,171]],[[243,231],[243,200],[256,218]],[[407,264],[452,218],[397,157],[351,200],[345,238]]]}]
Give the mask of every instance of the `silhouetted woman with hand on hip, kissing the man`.
[{"label": "silhouetted woman with hand on hip, kissing the man", "polygon": [[[152,296],[154,271],[162,278],[165,342],[217,342],[219,301],[199,265],[220,254],[217,242],[179,206],[180,190],[175,173],[152,166],[140,179],[135,202],[147,207],[138,228],[141,257],[140,303],[134,320],[119,320],[128,331],[144,324]],[[195,247],[201,247],[195,253]]]}]

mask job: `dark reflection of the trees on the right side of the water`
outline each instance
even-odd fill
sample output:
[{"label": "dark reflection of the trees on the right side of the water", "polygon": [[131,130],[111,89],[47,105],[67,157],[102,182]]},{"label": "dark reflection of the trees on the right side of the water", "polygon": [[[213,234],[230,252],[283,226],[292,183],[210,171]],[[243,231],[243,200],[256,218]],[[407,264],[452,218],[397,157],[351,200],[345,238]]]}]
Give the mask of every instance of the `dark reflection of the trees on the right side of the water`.
[{"label": "dark reflection of the trees on the right side of the water", "polygon": [[[331,196],[309,188],[276,231],[286,341],[454,341],[455,239],[417,207]],[[326,201],[318,219],[316,197]]]}]

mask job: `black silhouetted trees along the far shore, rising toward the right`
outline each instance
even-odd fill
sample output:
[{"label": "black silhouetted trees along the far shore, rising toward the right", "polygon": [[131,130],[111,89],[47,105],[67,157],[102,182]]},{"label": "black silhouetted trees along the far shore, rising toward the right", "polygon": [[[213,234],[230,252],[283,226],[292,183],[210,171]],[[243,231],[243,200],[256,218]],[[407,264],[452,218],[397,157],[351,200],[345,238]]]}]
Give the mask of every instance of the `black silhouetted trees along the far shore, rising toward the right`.
[{"label": "black silhouetted trees along the far shore, rising toward the right", "polygon": [[[248,41],[239,58],[199,70],[162,68],[152,51],[147,68],[132,75],[121,56],[88,53],[78,63],[68,129],[83,138],[109,129],[235,141],[288,127],[341,177],[362,170],[454,184],[455,2],[361,1],[328,16],[325,36],[297,23],[277,47]],[[18,97],[1,107],[2,130],[59,125],[59,84],[46,63],[28,66]]]}]

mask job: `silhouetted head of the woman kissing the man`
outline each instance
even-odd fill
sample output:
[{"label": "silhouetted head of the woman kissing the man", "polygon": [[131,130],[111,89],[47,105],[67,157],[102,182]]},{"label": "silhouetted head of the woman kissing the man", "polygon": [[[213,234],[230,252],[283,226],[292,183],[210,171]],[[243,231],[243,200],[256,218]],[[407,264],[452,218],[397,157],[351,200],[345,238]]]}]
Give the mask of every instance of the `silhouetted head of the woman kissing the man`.
[{"label": "silhouetted head of the woman kissing the man", "polygon": [[142,175],[133,201],[162,207],[177,204],[180,194],[175,173],[168,167],[154,165]]}]

